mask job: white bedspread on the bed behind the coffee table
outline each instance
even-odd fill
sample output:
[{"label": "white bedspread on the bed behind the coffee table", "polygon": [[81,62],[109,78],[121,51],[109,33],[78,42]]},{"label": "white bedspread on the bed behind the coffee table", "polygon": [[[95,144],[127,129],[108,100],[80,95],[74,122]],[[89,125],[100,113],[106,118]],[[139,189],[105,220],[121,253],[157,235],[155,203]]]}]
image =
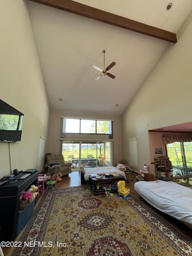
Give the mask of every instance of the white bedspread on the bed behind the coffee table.
[{"label": "white bedspread on the bed behind the coffee table", "polygon": [[125,172],[117,170],[116,167],[114,166],[107,166],[107,167],[95,167],[95,168],[84,168],[85,169],[85,174],[84,174],[84,179],[88,180],[89,175],[93,173],[111,173],[111,172],[116,172],[121,175],[123,175],[126,179]]}]

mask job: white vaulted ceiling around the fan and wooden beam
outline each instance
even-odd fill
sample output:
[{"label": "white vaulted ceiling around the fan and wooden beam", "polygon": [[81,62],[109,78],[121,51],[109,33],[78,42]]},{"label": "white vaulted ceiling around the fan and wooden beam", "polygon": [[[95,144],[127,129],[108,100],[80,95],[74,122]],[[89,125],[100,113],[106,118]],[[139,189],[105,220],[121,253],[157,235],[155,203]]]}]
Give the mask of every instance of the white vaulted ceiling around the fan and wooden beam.
[{"label": "white vaulted ceiling around the fan and wooden beam", "polygon": [[[192,1],[76,1],[177,33]],[[51,110],[121,116],[166,48],[173,43],[27,1]],[[116,65],[102,76],[92,67]],[[60,101],[59,98],[63,100]],[[118,106],[116,106],[118,104]]]}]

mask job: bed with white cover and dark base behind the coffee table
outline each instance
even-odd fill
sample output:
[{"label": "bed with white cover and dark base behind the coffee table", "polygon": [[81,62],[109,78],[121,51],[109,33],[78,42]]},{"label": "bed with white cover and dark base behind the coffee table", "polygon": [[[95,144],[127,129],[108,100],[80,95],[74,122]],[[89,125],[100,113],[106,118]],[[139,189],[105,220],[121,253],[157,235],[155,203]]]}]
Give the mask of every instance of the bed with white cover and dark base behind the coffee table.
[{"label": "bed with white cover and dark base behind the coffee table", "polygon": [[117,170],[116,167],[114,166],[107,166],[107,167],[95,167],[95,168],[86,168],[86,167],[81,167],[80,168],[81,172],[81,183],[86,183],[89,181],[89,175],[93,173],[111,173],[111,172],[116,172],[121,174],[122,176],[125,177],[126,175],[124,171]]}]

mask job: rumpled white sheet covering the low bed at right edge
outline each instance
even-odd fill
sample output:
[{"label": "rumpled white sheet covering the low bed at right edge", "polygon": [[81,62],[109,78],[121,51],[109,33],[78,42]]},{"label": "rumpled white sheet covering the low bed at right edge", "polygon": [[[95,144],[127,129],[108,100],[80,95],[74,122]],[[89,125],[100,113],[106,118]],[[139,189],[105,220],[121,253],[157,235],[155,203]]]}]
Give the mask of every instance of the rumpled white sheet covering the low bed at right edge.
[{"label": "rumpled white sheet covering the low bed at right edge", "polygon": [[138,181],[135,190],[152,206],[192,224],[192,189],[173,181]]}]

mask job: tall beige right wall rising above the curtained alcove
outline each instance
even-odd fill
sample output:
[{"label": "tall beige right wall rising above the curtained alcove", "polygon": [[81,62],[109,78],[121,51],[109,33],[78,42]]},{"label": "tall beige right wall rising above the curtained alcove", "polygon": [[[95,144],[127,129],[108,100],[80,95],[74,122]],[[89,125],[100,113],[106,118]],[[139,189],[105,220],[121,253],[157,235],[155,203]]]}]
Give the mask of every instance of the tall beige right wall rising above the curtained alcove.
[{"label": "tall beige right wall rising above the curtained alcove", "polygon": [[191,42],[192,13],[122,115],[123,158],[129,162],[128,139],[136,138],[139,170],[147,164],[154,173],[148,130],[192,121]]}]

